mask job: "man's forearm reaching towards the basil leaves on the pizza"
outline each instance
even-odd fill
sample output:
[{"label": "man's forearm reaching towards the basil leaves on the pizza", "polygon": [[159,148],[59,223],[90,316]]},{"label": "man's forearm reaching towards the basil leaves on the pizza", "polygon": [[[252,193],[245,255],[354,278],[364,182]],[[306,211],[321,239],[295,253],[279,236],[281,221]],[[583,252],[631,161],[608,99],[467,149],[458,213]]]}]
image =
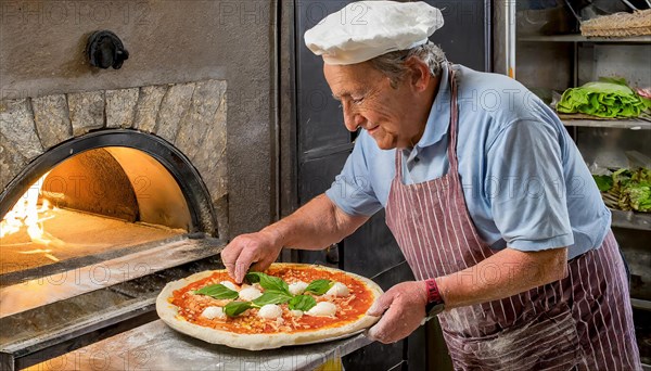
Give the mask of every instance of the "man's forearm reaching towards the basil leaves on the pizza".
[{"label": "man's forearm reaching towards the basil leaves on the pizza", "polygon": [[340,242],[368,219],[346,215],[326,194],[320,194],[261,232],[273,235],[285,247],[321,250]]}]

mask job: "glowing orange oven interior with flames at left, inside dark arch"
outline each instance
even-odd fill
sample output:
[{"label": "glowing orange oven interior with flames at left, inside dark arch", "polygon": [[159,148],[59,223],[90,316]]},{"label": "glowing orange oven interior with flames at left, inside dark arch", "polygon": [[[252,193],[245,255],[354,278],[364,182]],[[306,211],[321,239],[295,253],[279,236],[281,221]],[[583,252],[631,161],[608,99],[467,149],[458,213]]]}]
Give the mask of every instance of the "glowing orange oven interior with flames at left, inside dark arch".
[{"label": "glowing orange oven interior with flames at left, inside dark arch", "polygon": [[31,184],[0,222],[3,273],[187,233],[188,205],[171,175],[141,151],[75,155]]}]

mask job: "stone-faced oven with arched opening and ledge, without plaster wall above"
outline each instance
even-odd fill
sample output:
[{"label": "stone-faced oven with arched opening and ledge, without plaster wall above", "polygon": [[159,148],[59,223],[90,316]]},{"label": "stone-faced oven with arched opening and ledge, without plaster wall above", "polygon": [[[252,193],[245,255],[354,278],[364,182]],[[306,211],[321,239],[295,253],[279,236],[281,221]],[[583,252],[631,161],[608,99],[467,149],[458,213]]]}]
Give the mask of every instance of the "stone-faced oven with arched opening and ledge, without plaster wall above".
[{"label": "stone-faced oven with arched opening and ledge, without plaster wall above", "polygon": [[79,341],[142,321],[175,272],[218,264],[226,88],[205,80],[0,103],[0,327],[13,329],[0,337],[3,366],[55,355],[71,332]]}]

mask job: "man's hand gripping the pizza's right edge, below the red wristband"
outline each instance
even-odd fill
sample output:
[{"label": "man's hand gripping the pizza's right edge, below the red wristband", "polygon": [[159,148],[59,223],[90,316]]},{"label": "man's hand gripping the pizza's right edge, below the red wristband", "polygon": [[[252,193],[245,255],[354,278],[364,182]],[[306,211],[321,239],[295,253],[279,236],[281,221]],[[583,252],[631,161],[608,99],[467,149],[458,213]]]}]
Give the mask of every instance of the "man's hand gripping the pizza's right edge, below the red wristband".
[{"label": "man's hand gripping the pizza's right edge, below the red wristband", "polygon": [[407,337],[421,325],[426,304],[427,289],[424,281],[396,284],[380,296],[367,312],[369,316],[382,316],[368,331],[367,337],[384,344]]}]

